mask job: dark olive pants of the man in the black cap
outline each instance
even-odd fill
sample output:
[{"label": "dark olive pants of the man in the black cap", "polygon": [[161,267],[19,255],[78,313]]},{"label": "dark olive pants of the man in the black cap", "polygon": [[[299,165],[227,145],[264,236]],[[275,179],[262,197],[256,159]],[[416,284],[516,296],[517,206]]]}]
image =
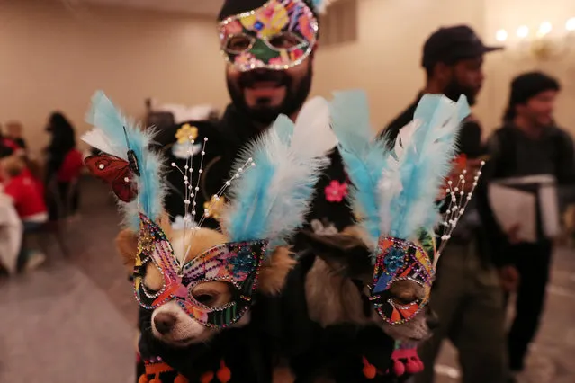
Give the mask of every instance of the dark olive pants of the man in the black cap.
[{"label": "dark olive pants of the man in the black cap", "polygon": [[429,307],[439,326],[419,346],[425,370],[416,383],[434,382],[434,364],[444,340],[454,344],[463,383],[506,381],[505,311],[499,278],[492,266],[481,262],[473,242],[450,243],[439,261]]}]

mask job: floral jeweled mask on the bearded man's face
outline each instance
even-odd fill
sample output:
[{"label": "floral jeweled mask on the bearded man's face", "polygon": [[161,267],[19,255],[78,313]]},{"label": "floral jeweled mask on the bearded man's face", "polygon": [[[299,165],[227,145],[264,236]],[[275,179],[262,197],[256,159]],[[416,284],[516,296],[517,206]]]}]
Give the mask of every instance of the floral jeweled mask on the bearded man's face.
[{"label": "floral jeweled mask on the bearded man's face", "polygon": [[270,0],[220,22],[220,49],[238,70],[283,70],[310,56],[318,21],[303,0]]}]

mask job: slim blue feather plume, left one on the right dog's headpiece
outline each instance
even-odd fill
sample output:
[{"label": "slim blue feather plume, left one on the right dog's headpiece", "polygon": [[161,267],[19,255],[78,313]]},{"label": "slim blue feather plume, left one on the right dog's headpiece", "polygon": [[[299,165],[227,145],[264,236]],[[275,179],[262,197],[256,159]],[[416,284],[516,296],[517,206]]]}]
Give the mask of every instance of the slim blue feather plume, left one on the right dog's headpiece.
[{"label": "slim blue feather plume, left one on the right dog's headpiece", "polygon": [[330,103],[332,128],[339,141],[339,153],[354,184],[352,203],[362,217],[360,224],[377,244],[381,218],[378,185],[388,167],[385,139],[375,138],[369,121],[367,97],[362,91],[334,93]]}]

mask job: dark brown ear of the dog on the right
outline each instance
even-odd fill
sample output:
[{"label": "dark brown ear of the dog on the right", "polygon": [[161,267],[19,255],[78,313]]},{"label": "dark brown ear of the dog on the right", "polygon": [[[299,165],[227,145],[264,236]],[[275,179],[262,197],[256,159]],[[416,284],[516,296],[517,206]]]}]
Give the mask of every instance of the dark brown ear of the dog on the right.
[{"label": "dark brown ear of the dog on the right", "polygon": [[302,230],[300,240],[340,275],[364,280],[373,273],[372,252],[357,236],[345,233],[319,236]]}]

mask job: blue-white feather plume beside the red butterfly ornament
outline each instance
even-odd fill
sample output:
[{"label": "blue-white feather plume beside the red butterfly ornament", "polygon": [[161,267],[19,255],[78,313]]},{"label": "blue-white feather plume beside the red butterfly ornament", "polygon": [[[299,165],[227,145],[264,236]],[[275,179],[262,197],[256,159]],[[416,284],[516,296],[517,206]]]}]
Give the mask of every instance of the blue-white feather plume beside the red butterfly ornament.
[{"label": "blue-white feather plume beside the red butterfly ornament", "polygon": [[124,160],[128,151],[133,150],[138,160],[141,174],[136,177],[138,199],[122,206],[125,223],[138,231],[140,210],[157,220],[163,211],[166,191],[160,176],[161,160],[149,149],[154,132],[140,129],[134,121],[126,119],[102,91],[92,97],[92,108],[85,120],[94,126],[82,137],[85,143]]}]

